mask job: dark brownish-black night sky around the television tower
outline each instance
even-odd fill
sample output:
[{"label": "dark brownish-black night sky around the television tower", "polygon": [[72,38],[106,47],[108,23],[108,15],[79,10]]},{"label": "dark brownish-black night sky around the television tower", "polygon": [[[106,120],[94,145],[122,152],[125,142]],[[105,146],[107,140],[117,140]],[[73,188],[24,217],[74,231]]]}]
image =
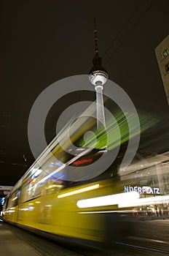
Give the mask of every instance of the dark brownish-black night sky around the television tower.
[{"label": "dark brownish-black night sky around the television tower", "polygon": [[[161,117],[167,127],[168,103],[154,48],[168,35],[168,0],[2,1],[0,9],[0,185],[14,185],[34,162],[27,126],[36,97],[55,81],[90,71],[93,18],[109,79],[135,108]],[[70,94],[56,102],[47,118],[47,140],[55,135],[62,110],[77,98],[95,95]]]}]

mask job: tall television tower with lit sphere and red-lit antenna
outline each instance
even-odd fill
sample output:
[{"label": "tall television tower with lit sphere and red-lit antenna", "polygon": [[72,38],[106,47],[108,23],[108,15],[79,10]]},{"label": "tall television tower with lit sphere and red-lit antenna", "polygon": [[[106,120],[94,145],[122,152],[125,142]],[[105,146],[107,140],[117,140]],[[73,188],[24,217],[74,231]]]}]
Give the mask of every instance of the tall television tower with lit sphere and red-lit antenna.
[{"label": "tall television tower with lit sphere and red-lit antenna", "polygon": [[101,57],[98,56],[98,37],[96,23],[94,19],[94,34],[95,34],[95,56],[93,58],[93,67],[89,73],[89,80],[95,86],[96,92],[96,116],[97,116],[97,129],[106,128],[106,121],[104,115],[103,105],[103,85],[108,79],[108,73],[106,69],[102,67]]}]

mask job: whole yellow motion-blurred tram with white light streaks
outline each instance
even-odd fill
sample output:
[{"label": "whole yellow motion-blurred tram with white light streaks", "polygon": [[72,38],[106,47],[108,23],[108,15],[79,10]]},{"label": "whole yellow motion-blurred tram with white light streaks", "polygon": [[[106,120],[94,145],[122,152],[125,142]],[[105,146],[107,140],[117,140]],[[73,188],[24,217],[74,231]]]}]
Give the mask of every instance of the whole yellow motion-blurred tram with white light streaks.
[{"label": "whole yellow motion-blurred tram with white light streaks", "polygon": [[[73,143],[85,132],[81,123],[85,130],[93,127],[91,120],[75,122],[76,132],[69,131]],[[116,164],[97,177],[68,180],[68,166],[76,166],[78,171],[97,161],[103,150],[81,147],[80,153],[77,150],[72,157],[70,142],[64,132],[60,136],[66,151],[57,138],[52,140],[6,197],[2,218],[64,241],[81,244],[122,241],[132,232],[134,214],[130,203],[138,199],[138,192],[124,192],[128,181],[114,176]]]}]

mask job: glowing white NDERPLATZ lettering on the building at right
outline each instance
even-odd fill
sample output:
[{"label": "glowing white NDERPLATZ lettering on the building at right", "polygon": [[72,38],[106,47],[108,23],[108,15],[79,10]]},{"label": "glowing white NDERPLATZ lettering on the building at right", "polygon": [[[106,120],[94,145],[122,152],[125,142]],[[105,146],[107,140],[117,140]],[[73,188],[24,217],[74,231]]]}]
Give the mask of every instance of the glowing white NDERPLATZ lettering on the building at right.
[{"label": "glowing white NDERPLATZ lettering on the building at right", "polygon": [[125,186],[125,192],[138,192],[139,194],[156,194],[160,195],[160,188],[159,187],[138,187],[138,186]]}]

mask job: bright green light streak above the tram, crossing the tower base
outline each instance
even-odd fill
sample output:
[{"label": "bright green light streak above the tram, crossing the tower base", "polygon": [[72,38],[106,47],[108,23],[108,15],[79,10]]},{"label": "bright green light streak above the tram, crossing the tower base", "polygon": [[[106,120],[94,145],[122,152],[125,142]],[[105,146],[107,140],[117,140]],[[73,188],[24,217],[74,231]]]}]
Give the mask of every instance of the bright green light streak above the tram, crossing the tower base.
[{"label": "bright green light streak above the tram, crossing the tower base", "polygon": [[[106,129],[93,130],[95,135],[90,134],[87,136],[87,138],[85,138],[85,141],[83,139],[80,140],[79,146],[98,149],[106,148],[107,150],[111,150],[121,145],[122,143],[127,142],[131,138],[134,138],[141,132],[146,131],[146,129],[154,126],[154,124],[157,124],[159,121],[157,118],[138,115],[140,120],[140,127],[135,128],[135,126],[133,126],[133,129],[130,130],[129,135],[127,120],[130,121],[130,123],[134,122],[135,114],[127,113],[126,116],[121,111],[117,112],[114,115],[114,121],[106,121]],[[107,135],[109,135],[109,137]],[[109,140],[107,140],[107,138],[109,138]]]}]

